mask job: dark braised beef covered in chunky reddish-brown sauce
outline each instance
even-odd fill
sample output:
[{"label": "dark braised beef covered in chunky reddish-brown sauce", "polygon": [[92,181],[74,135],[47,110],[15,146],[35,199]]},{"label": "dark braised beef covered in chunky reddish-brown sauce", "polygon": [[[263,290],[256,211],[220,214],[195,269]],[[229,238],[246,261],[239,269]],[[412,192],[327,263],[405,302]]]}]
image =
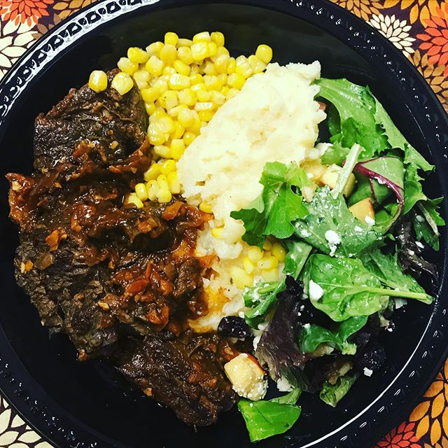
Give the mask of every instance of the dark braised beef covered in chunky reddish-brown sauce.
[{"label": "dark braised beef covered in chunky reddish-brown sauce", "polygon": [[146,395],[205,426],[235,402],[223,363],[237,352],[188,329],[187,319],[207,311],[205,267],[193,257],[205,215],[179,199],[124,204],[151,162],[147,121],[135,88],[121,96],[87,86],[36,118],[34,173],[7,175],[20,226],[16,277],[79,360],[109,360]]}]

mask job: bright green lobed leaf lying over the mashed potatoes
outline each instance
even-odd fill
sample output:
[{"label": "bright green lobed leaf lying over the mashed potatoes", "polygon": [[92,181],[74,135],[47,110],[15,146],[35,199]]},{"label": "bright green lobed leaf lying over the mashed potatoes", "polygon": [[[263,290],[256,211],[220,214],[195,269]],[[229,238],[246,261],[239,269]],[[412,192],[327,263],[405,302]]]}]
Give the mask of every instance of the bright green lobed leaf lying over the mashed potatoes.
[{"label": "bright green lobed leaf lying over the mashed potatoes", "polygon": [[244,222],[246,232],[242,238],[246,243],[262,247],[267,235],[284,239],[293,234],[291,222],[303,218],[307,211],[302,197],[292,187],[303,188],[311,181],[296,163],[267,162],[260,183],[261,195],[246,209],[232,211],[230,216]]}]

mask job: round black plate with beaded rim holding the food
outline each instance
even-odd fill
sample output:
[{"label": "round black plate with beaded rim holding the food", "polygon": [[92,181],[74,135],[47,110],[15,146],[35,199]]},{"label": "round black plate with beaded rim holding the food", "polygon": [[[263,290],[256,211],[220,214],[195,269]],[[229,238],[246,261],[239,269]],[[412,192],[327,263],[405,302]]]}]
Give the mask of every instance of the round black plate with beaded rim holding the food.
[{"label": "round black plate with beaded rim holding the food", "polygon": [[[0,389],[18,412],[57,447],[248,447],[237,411],[195,432],[169,409],[130,391],[100,362],[80,364],[64,336],[48,338],[27,296],[15,285],[17,229],[7,218],[6,172],[31,172],[35,116],[85,83],[92,69],[110,69],[130,45],[160,40],[165,31],[191,36],[220,30],[235,53],[258,43],[276,62],[319,59],[323,76],[368,84],[411,143],[437,166],[426,182],[448,195],[448,120],[426,82],[391,43],[365,22],[324,0],[104,0],[74,15],[38,41],[0,85],[1,241]],[[444,204],[444,215],[446,204]],[[409,304],[397,330],[384,335],[388,361],[361,378],[337,409],[311,397],[285,436],[263,447],[370,447],[405,416],[447,354],[446,230],[442,288],[428,307]]]}]

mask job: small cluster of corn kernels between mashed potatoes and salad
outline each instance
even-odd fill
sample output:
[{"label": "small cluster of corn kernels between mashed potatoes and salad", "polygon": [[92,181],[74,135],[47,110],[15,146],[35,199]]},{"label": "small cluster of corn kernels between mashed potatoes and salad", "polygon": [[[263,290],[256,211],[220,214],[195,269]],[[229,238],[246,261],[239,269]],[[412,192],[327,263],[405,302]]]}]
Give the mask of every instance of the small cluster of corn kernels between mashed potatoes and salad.
[{"label": "small cluster of corn kernels between mashed potatoes and salad", "polygon": [[[212,230],[213,232],[213,230]],[[253,286],[254,279],[262,277],[264,281],[278,281],[280,276],[279,263],[285,261],[286,250],[274,239],[267,239],[263,250],[258,246],[249,246],[242,260],[243,267],[230,267],[230,277],[233,283],[244,289]]]}]

